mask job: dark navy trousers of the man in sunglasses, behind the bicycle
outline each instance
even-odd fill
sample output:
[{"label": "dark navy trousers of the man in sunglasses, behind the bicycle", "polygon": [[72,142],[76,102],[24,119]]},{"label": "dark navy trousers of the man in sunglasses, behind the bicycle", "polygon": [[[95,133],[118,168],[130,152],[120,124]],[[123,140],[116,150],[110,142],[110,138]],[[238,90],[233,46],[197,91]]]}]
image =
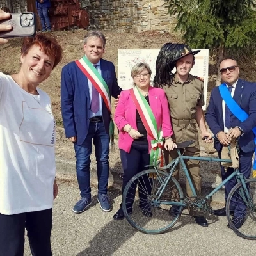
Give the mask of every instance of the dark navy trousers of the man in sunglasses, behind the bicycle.
[{"label": "dark navy trousers of the man in sunglasses, behind the bicycle", "polygon": [[[244,153],[242,150],[239,152],[239,171],[244,175],[246,179],[250,178],[250,174],[252,172],[252,156],[253,151]],[[219,152],[219,157],[221,157],[221,153]],[[225,172],[225,168],[221,166],[221,176],[222,180],[227,179],[227,177],[234,172],[234,168],[227,168]],[[228,194],[231,189],[237,184],[236,177],[233,177],[225,184],[225,201],[227,202]],[[246,205],[243,203],[241,196],[234,195],[232,196],[232,200],[230,202],[230,210],[235,211],[235,216],[239,217],[243,215],[246,210]]]}]

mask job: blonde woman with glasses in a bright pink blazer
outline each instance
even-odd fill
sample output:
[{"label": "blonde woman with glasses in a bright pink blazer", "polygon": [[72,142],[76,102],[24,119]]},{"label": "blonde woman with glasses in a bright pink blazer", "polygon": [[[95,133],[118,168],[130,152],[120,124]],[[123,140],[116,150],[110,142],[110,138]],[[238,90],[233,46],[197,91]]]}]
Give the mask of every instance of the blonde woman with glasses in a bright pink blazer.
[{"label": "blonde woman with glasses in a bright pink blazer", "polygon": [[[157,139],[164,138],[164,148],[170,151],[176,147],[171,138],[173,131],[168,101],[164,90],[150,86],[151,73],[146,63],[138,63],[132,67],[134,88],[121,92],[115,111],[114,119],[120,131],[118,146],[124,170],[123,191],[127,182],[138,172],[146,170],[145,165],[150,164],[151,143],[154,140],[152,135],[157,134],[159,129],[163,133],[161,135],[158,133]],[[148,113],[153,114],[152,118]],[[150,130],[150,127],[154,127],[153,123],[157,124],[157,131],[153,128]],[[141,197],[143,197],[142,194]],[[131,211],[132,203],[131,200]],[[141,209],[145,216],[152,216],[149,207],[141,207]],[[124,219],[122,205],[113,218],[114,220]]]}]

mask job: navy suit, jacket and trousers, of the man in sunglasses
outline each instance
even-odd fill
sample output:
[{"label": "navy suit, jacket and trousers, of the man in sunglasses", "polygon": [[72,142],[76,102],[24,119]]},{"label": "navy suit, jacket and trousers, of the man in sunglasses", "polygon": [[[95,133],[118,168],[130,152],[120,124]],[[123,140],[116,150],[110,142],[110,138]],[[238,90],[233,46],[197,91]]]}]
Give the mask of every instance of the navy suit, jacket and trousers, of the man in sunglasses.
[{"label": "navy suit, jacket and trousers, of the man in sunglasses", "polygon": [[[246,179],[248,179],[251,173],[252,156],[255,148],[253,141],[254,134],[252,129],[253,127],[256,127],[256,83],[251,83],[239,79],[236,84],[233,99],[237,102],[241,109],[243,109],[249,115],[249,117],[244,122],[241,122],[234,115],[230,116],[232,127],[238,126],[241,127],[241,129],[244,131],[243,136],[240,136],[238,140],[240,148],[239,170],[244,174]],[[232,109],[230,110],[232,111]],[[224,131],[222,97],[218,87],[213,88],[212,90],[205,117],[207,124],[209,125],[209,128],[213,132],[214,136],[216,136],[218,132]],[[222,149],[221,143],[214,143],[214,148],[218,151],[220,156]],[[224,168],[221,166],[222,179],[225,180],[233,171],[233,168],[228,168],[227,172],[225,172]],[[236,183],[236,178],[234,178],[227,182],[225,185],[225,200],[227,200],[228,193]],[[241,203],[234,203],[235,215],[236,211],[241,211],[243,208],[244,205]]]}]

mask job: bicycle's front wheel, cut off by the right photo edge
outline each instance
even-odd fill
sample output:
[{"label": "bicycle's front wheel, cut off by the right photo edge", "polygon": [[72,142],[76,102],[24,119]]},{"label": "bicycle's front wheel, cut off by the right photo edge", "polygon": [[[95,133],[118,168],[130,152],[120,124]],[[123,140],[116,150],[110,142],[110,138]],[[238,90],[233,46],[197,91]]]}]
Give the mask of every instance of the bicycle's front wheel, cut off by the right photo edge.
[{"label": "bicycle's front wheel, cut off by the right photo edge", "polygon": [[[247,189],[239,182],[230,191],[226,205],[227,219],[238,236],[256,240],[256,179],[247,179],[245,184]],[[230,211],[234,211],[234,216],[230,215]],[[238,229],[235,226],[237,221],[244,222]]]}]

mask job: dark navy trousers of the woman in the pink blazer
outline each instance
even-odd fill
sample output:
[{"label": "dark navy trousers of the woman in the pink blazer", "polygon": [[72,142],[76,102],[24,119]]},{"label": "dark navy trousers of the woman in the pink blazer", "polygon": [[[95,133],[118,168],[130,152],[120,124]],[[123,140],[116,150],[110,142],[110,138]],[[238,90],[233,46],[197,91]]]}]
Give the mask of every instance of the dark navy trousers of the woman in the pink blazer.
[{"label": "dark navy trousers of the woman in the pink blazer", "polygon": [[[124,170],[123,175],[123,186],[122,192],[124,192],[125,186],[131,180],[131,178],[137,173],[147,170],[148,167],[145,165],[149,164],[150,155],[148,154],[148,144],[136,144],[132,143],[132,147],[129,153],[120,149],[120,157],[122,161],[122,166]],[[135,191],[137,184],[134,182],[132,188],[128,191],[128,196],[126,199],[126,208],[127,211],[132,210],[132,204],[134,202]],[[150,180],[143,179],[139,180],[139,198],[140,198],[140,207],[141,209],[147,206],[147,193],[151,193],[151,184]]]}]

